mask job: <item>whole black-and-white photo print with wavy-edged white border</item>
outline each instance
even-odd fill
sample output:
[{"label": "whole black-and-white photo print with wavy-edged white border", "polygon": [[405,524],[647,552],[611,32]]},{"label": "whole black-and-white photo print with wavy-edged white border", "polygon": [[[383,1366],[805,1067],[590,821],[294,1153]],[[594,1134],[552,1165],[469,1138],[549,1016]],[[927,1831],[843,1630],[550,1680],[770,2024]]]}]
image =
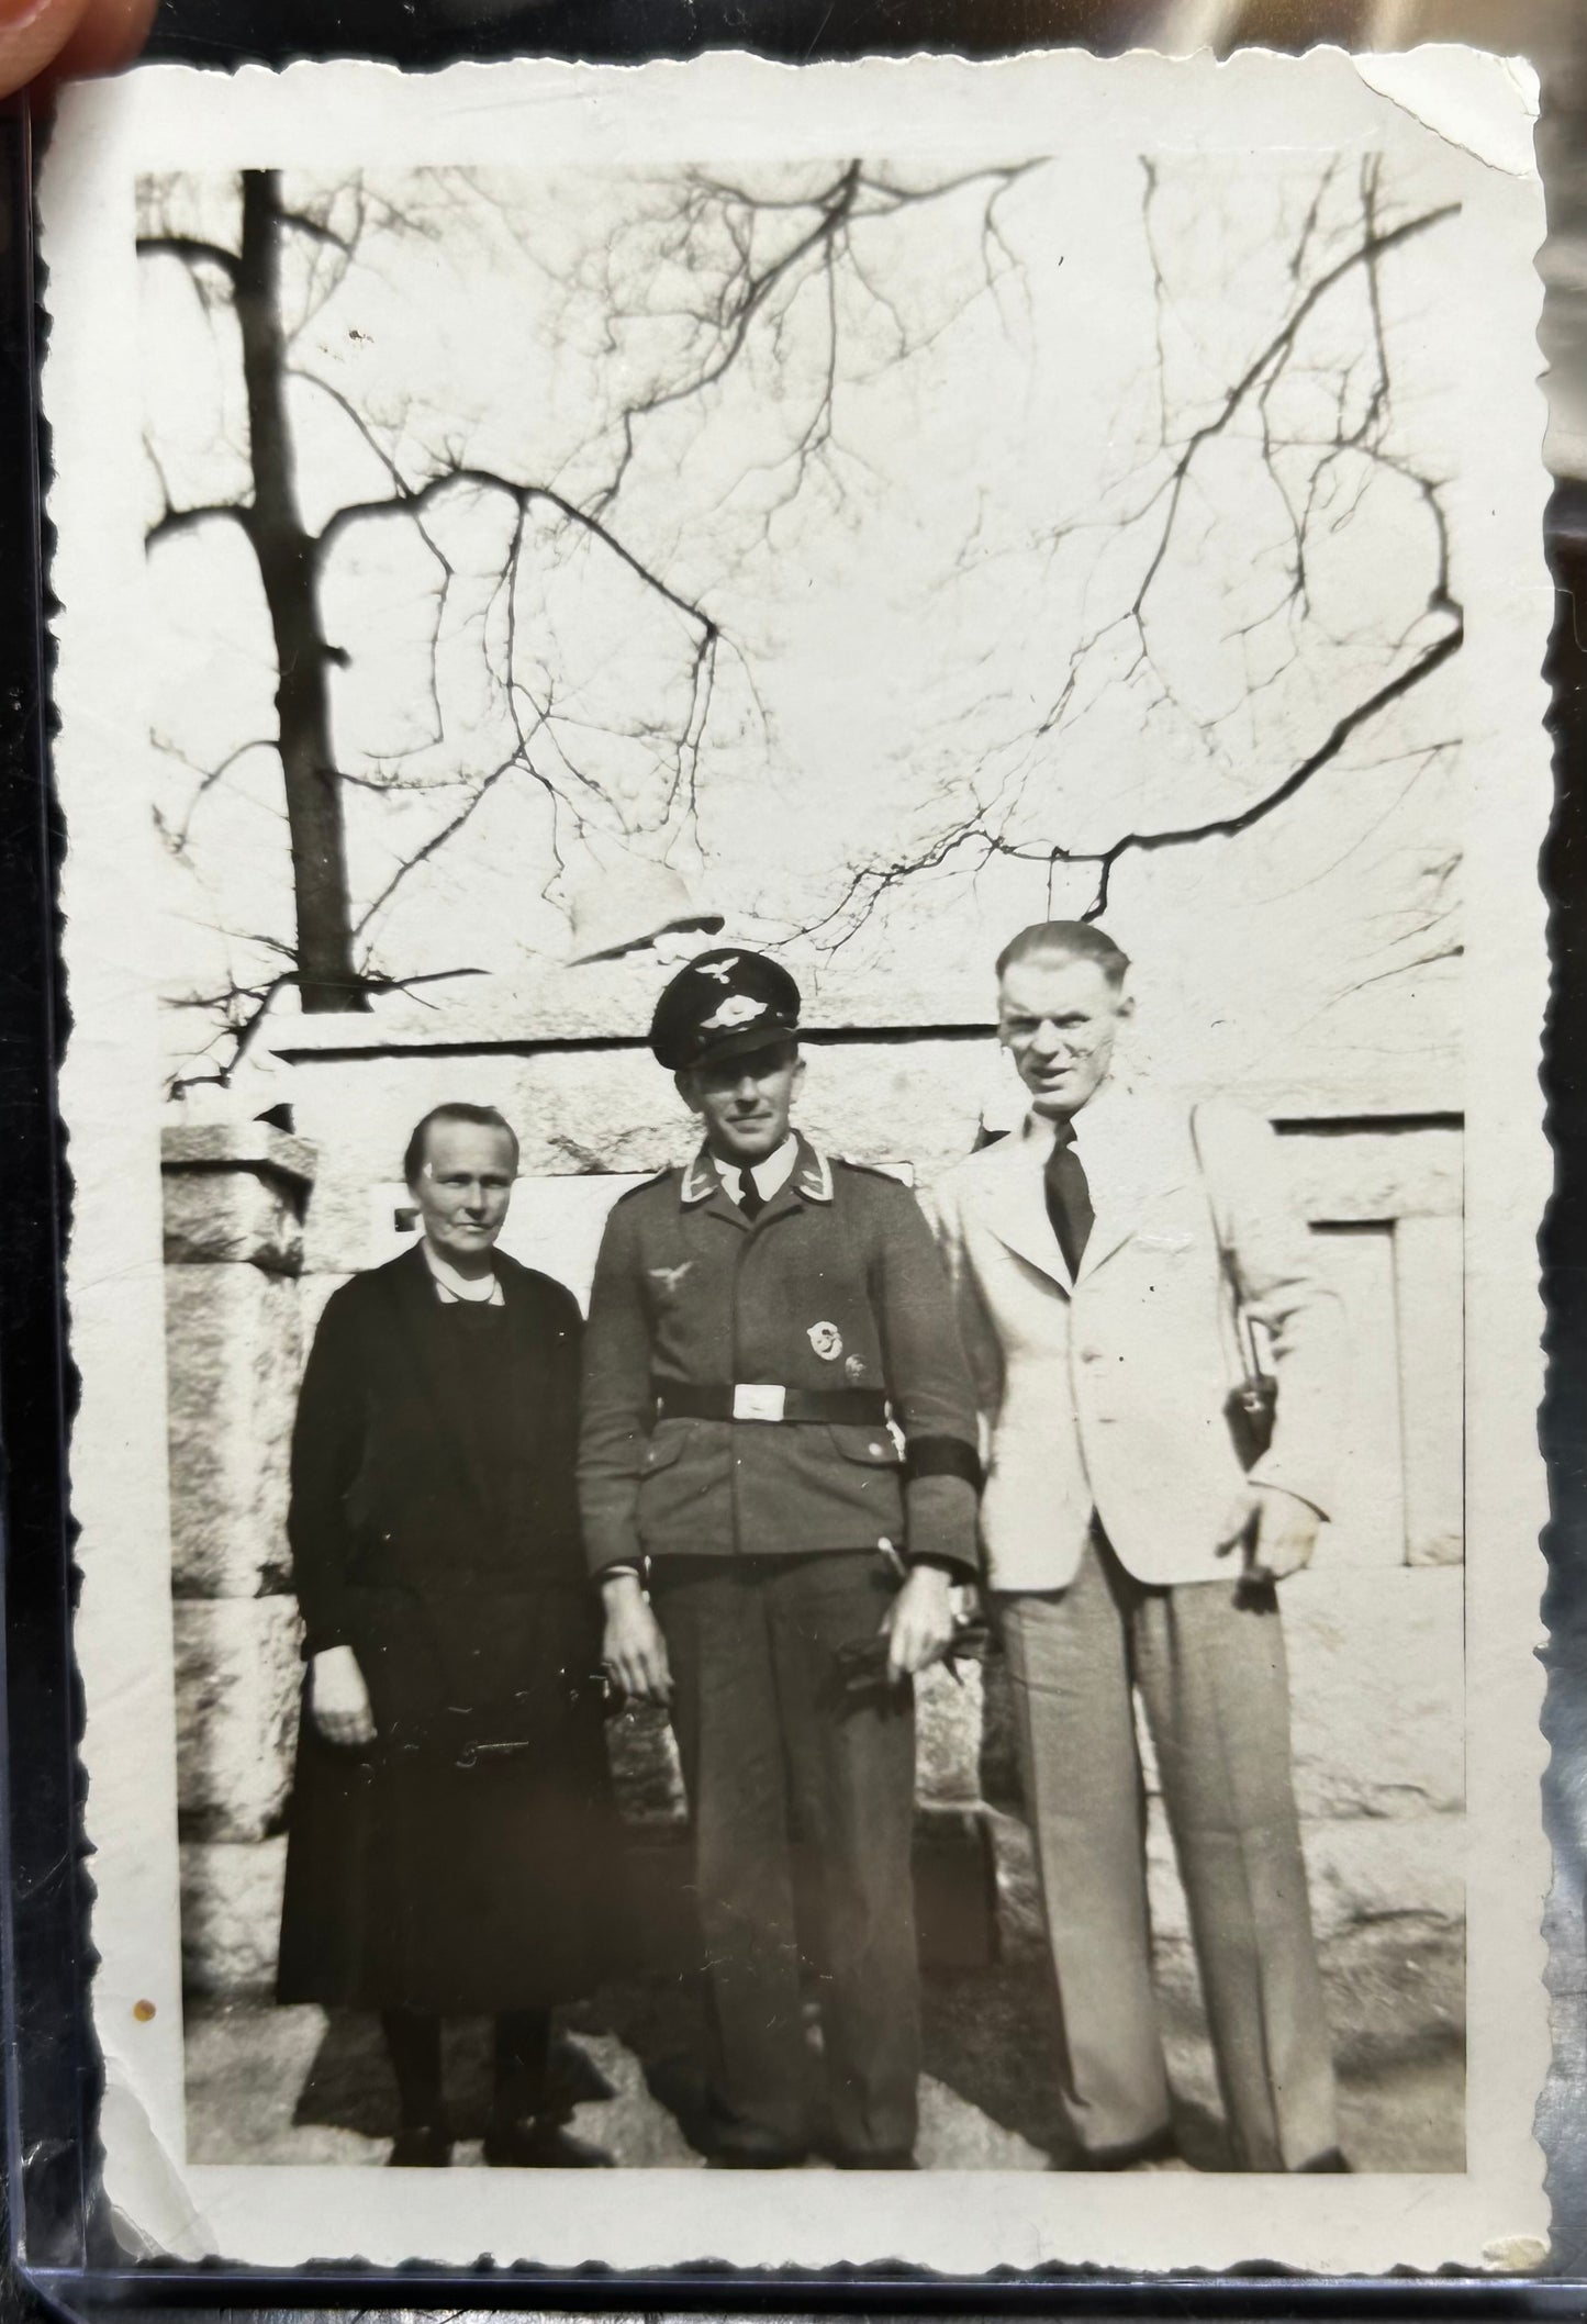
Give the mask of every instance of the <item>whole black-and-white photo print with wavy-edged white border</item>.
[{"label": "whole black-and-white photo print with wavy-edged white border", "polygon": [[[65,93],[70,1464],[142,2254],[1543,2261],[1531,105],[1455,49]],[[658,1064],[706,951],[697,1053],[783,1009],[769,953],[802,1081]],[[507,1571],[576,1543],[581,1332],[586,1548],[620,1506],[672,1717],[602,1706],[593,1585]],[[920,1671],[911,1789],[885,1652],[823,1692],[764,1641],[934,1606],[897,1513],[948,1525],[976,1436],[990,1634]],[[576,1975],[597,1822],[630,1943]]]}]

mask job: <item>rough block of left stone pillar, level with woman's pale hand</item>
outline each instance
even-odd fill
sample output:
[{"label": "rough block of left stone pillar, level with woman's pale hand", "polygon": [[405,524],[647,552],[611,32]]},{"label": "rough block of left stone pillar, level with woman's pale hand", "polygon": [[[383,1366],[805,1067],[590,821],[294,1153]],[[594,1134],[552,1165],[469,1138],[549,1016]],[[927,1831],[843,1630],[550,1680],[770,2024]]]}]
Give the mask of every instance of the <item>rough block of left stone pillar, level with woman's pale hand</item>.
[{"label": "rough block of left stone pillar, level with woman's pale hand", "polygon": [[177,1599],[177,1801],[191,1841],[260,1841],[293,1783],[293,1599]]}]

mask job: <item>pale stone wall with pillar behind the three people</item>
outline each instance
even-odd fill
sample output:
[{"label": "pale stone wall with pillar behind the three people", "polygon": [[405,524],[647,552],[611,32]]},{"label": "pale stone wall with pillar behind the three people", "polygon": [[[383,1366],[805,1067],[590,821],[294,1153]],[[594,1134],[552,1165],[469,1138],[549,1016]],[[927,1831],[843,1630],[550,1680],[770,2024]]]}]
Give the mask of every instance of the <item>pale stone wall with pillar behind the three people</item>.
[{"label": "pale stone wall with pillar behind the three people", "polygon": [[[272,1095],[307,1143],[251,1125],[177,1132],[167,1150],[186,1957],[204,1992],[272,1975],[297,1697],[281,1597],[290,1404],[330,1287],[411,1239],[397,1155],[414,1120],[446,1097],[502,1106],[525,1174],[507,1246],[527,1234],[520,1255],[541,1264],[537,1206],[555,1229],[576,1197],[590,1243],[586,1213],[613,1190],[595,1164],[648,1171],[690,1143],[667,1076],[632,1043],[441,1053],[365,1039],[304,1043],[279,1064]],[[946,1027],[818,1039],[811,1134],[925,1181],[974,1141],[988,1048],[978,1030]],[[1434,2043],[1462,2013],[1459,1118],[1364,1118],[1315,1097],[1310,1113],[1294,1097],[1269,1111],[1357,1325],[1341,1515],[1317,1569],[1285,1585],[1313,1903],[1350,2040]],[[1001,1690],[997,1659],[985,1678],[922,1685],[920,1862],[936,1899],[929,1952],[946,1964],[992,1936],[1011,1959],[1039,1945]],[[665,1724],[630,1717],[613,1736],[634,1829],[676,1838]],[[1155,1799],[1150,1855],[1164,1982],[1190,2015],[1185,1906]]]}]

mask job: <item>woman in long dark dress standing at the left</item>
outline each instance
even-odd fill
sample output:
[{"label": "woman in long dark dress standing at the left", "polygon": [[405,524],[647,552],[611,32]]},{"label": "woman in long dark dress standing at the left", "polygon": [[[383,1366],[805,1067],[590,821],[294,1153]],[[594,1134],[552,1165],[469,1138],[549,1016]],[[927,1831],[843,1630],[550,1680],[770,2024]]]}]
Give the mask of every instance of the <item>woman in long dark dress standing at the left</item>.
[{"label": "woman in long dark dress standing at the left", "polygon": [[574,1501],[579,1306],[497,1253],[518,1162],[441,1106],[407,1178],[423,1243],[332,1292],[288,1536],[304,1618],[281,2001],[372,2008],[393,2164],[446,2164],[441,2017],[495,2017],[486,2161],[604,2161],[562,2129],[551,2006],[613,1954],[599,1620]]}]

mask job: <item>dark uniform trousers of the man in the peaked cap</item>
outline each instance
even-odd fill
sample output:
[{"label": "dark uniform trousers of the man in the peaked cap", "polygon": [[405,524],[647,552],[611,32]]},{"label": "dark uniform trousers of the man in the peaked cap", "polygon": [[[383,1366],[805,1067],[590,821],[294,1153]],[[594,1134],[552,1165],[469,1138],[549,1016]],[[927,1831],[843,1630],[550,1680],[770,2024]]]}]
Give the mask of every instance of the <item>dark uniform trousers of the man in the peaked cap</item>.
[{"label": "dark uniform trousers of the man in the peaked cap", "polygon": [[816,1917],[834,2152],[864,2161],[915,2143],[913,1690],[846,1694],[836,1662],[876,1636],[895,1590],[876,1550],[653,1566],[725,2145],[811,2140],[795,1899]]}]

